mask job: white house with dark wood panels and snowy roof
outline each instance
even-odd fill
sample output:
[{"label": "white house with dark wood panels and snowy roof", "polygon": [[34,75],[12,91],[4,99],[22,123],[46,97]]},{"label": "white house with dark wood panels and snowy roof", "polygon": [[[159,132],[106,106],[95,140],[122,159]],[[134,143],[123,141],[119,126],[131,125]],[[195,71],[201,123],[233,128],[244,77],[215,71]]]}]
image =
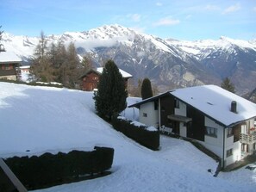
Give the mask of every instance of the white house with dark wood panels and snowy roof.
[{"label": "white house with dark wood panels and snowy roof", "polygon": [[171,90],[129,107],[140,122],[197,139],[222,158],[222,167],[256,150],[256,104],[215,85]]}]

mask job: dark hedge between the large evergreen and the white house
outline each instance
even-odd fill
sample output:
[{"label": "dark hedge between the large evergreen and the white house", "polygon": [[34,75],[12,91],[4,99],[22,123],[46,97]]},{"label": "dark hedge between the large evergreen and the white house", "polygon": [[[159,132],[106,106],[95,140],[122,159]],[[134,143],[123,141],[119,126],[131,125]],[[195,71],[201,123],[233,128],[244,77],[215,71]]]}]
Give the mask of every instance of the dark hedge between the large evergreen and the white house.
[{"label": "dark hedge between the large evergreen and the white house", "polygon": [[157,129],[148,130],[146,126],[138,127],[132,124],[132,121],[117,116],[112,118],[112,126],[142,146],[155,151],[159,149],[159,131]]}]

